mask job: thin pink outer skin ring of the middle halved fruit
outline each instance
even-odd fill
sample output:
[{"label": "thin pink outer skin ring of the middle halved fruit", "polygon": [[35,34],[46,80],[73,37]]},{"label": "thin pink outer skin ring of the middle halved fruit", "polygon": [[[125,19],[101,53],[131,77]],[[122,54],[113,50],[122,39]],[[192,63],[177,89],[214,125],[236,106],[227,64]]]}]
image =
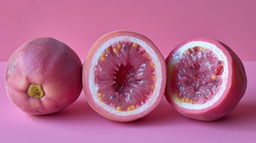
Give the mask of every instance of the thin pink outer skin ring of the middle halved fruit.
[{"label": "thin pink outer skin ring of the middle halved fruit", "polygon": [[[117,114],[113,114],[110,111],[106,110],[105,108],[101,107],[100,105],[97,105],[97,103],[93,100],[92,96],[97,96],[97,95],[92,95],[89,87],[89,82],[93,82],[93,79],[90,79],[90,66],[94,59],[92,59],[93,55],[97,52],[97,49],[106,41],[109,39],[118,37],[118,36],[131,36],[134,38],[138,38],[146,42],[152,50],[158,55],[159,60],[161,61],[158,64],[161,64],[161,69],[162,69],[162,82],[160,83],[161,89],[159,92],[159,97],[156,99],[155,102],[152,103],[150,107],[147,107],[143,112],[138,113],[138,114],[129,114],[127,113],[125,116],[119,116]],[[140,43],[138,43],[140,44]],[[91,108],[95,111],[97,111],[98,114],[101,114],[101,116],[106,117],[107,119],[110,120],[115,120],[118,122],[131,122],[136,119],[140,119],[143,116],[146,116],[149,114],[162,100],[164,97],[164,91],[165,91],[165,84],[166,84],[166,64],[165,64],[165,59],[162,56],[161,52],[159,51],[158,48],[153,44],[150,39],[146,38],[146,36],[140,35],[138,33],[134,32],[129,32],[126,30],[118,30],[114,32],[110,32],[101,38],[98,39],[97,42],[94,43],[94,45],[91,47],[90,51],[88,52],[87,58],[84,61],[83,64],[83,71],[82,71],[82,85],[84,89],[85,96],[87,97],[87,101],[90,104]],[[136,109],[137,110],[137,109]],[[134,110],[135,111],[135,110]]]}]

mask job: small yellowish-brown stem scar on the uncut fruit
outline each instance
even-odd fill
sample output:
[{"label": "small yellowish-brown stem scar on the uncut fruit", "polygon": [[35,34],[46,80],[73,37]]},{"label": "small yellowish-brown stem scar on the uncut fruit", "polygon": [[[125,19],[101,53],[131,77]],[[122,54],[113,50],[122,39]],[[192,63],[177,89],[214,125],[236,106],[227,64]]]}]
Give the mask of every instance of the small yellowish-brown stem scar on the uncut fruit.
[{"label": "small yellowish-brown stem scar on the uncut fruit", "polygon": [[41,98],[44,97],[45,92],[41,85],[33,83],[29,86],[27,94],[29,94],[29,96],[33,98]]}]

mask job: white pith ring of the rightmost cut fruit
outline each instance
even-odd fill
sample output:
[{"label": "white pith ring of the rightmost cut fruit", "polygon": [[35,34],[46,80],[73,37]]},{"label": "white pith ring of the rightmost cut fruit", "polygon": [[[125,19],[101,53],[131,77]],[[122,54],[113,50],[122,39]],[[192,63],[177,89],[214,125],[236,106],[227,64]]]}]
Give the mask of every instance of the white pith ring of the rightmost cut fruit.
[{"label": "white pith ring of the rightmost cut fruit", "polygon": [[215,54],[215,57],[217,57],[219,60],[223,61],[223,73],[220,75],[221,78],[223,79],[223,82],[220,85],[220,89],[215,94],[214,98],[205,102],[204,104],[190,104],[187,102],[181,102],[178,99],[178,97],[174,96],[171,88],[168,88],[168,93],[169,93],[169,96],[171,97],[172,101],[174,101],[175,104],[179,105],[180,107],[189,108],[189,109],[202,109],[202,108],[207,108],[207,107],[211,106],[212,104],[214,104],[216,101],[218,101],[220,99],[221,95],[223,95],[223,92],[225,91],[225,88],[227,85],[227,78],[224,78],[224,77],[227,77],[229,74],[228,66],[227,66],[227,58],[224,55],[224,53],[220,49],[217,48],[217,46],[213,45],[212,43],[208,43],[208,42],[193,41],[193,42],[186,43],[186,45],[183,45],[181,48],[179,48],[178,51],[176,51],[174,53],[174,55],[172,55],[171,60],[169,61],[168,65],[167,65],[167,73],[168,74],[167,74],[166,85],[171,85],[172,75],[169,73],[171,73],[173,65],[178,63],[178,61],[181,59],[181,57],[183,57],[184,51],[186,51],[189,48],[193,48],[194,46],[201,46],[203,48],[207,48],[208,50],[212,51]]}]

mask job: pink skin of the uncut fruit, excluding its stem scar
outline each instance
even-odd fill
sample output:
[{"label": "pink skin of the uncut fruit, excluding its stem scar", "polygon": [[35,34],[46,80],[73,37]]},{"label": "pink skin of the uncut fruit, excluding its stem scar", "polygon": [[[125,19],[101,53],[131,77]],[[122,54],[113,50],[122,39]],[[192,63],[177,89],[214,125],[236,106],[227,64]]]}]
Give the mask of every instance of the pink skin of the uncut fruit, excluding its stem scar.
[{"label": "pink skin of the uncut fruit, excluding its stem scar", "polygon": [[[29,114],[50,114],[76,101],[82,91],[82,62],[69,46],[53,38],[24,43],[8,60],[4,73],[7,95]],[[30,84],[41,85],[45,95],[30,97]]]}]

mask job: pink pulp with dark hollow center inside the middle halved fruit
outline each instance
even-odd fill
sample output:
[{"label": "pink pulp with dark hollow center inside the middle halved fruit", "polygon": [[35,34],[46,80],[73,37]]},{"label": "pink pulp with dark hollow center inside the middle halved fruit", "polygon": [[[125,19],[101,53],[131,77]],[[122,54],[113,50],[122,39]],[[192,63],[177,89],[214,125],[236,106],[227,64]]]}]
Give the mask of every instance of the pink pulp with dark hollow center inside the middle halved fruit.
[{"label": "pink pulp with dark hollow center inside the middle halved fruit", "polygon": [[119,41],[106,48],[94,69],[98,100],[118,111],[143,105],[155,89],[155,64],[137,43]]}]

